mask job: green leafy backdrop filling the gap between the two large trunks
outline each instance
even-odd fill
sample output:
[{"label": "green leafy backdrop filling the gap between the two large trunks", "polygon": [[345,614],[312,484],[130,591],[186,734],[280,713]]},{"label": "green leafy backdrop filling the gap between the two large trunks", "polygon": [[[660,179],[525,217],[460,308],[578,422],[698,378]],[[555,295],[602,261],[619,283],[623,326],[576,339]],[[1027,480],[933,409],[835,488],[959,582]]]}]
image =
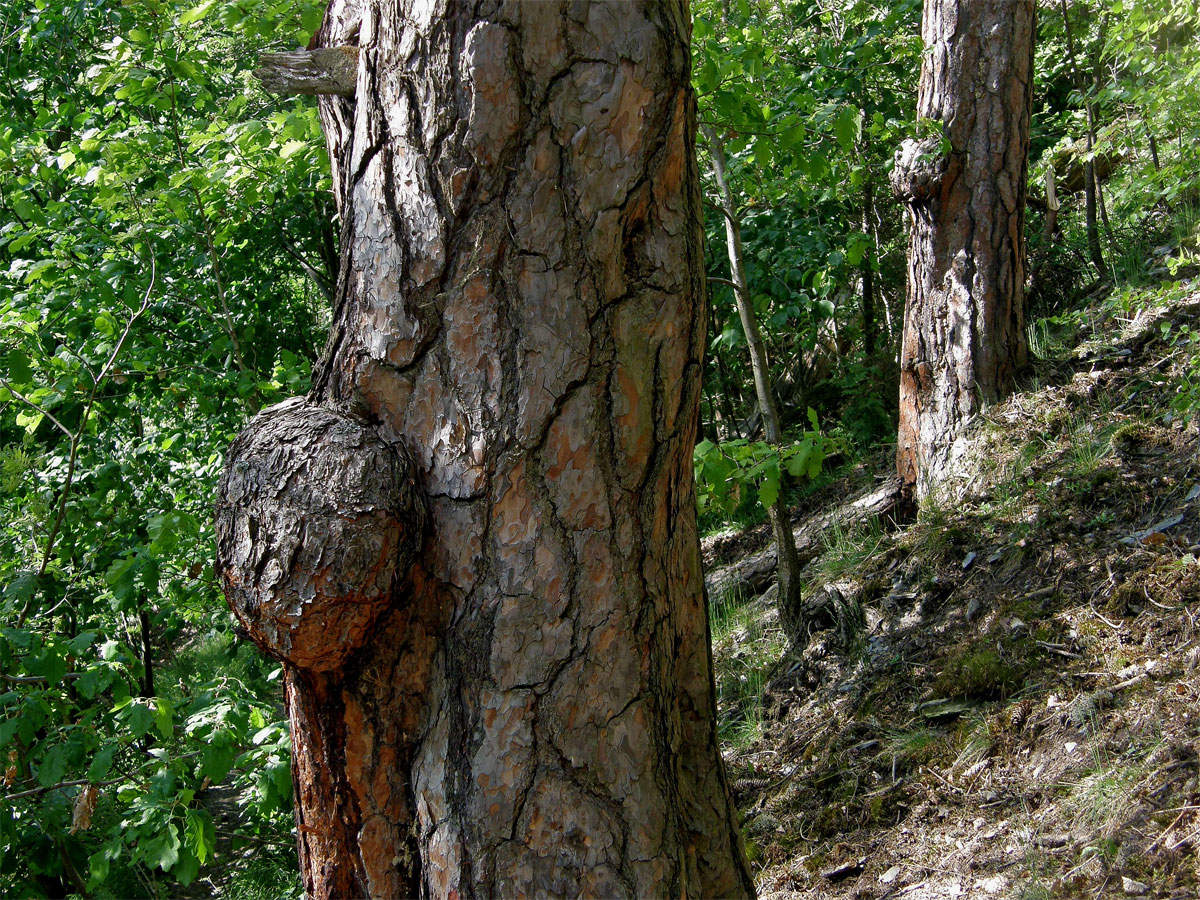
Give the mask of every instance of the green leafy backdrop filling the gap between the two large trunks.
[{"label": "green leafy backdrop filling the gap between the two large trunks", "polygon": [[[803,422],[815,407],[836,421],[864,400],[850,388],[822,389],[833,376],[870,371],[865,348],[887,355],[899,336],[904,283],[904,220],[887,173],[913,125],[920,64],[919,2],[694,5],[694,85],[702,126],[720,136],[738,206],[745,274],[763,329],[780,414]],[[708,172],[703,142],[701,170]],[[712,185],[708,186],[712,193]],[[725,221],[707,218],[709,274],[727,276]],[[880,283],[864,325],[864,272]],[[713,282],[706,409],[722,438],[752,438],[745,337],[732,290]],[[884,312],[884,305],[892,306]],[[894,308],[892,308],[894,307]],[[730,377],[730,376],[734,377]],[[871,390],[877,388],[872,383]],[[878,437],[895,401],[851,414]],[[869,436],[869,437],[868,437]]]}]

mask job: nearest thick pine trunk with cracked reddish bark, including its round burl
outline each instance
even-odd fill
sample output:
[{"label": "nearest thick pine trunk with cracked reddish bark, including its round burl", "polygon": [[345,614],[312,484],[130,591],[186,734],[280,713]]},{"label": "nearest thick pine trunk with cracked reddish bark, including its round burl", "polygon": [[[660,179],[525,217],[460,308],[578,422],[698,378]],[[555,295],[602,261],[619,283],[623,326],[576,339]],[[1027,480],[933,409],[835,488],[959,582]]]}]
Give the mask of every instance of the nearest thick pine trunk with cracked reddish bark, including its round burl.
[{"label": "nearest thick pine trunk with cracked reddish bark, including its round burl", "polygon": [[218,504],[230,604],[284,660],[312,898],[752,893],[691,470],[689,29],[683,2],[326,12],[317,43],[360,50],[320,100],[332,331]]}]

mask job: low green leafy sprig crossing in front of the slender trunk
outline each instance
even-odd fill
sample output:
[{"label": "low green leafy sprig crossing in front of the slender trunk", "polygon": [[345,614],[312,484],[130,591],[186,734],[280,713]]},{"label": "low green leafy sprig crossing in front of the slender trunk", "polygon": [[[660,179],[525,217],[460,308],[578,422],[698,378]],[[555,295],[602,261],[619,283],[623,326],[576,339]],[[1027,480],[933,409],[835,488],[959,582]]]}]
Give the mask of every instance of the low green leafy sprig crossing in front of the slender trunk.
[{"label": "low green leafy sprig crossing in front of the slender trunk", "polygon": [[817,415],[809,409],[811,431],[791,444],[764,440],[703,440],[692,455],[696,472],[696,503],[700,515],[721,511],[726,516],[752,490],[763,508],[774,505],[784,486],[784,475],[815,479],[827,456],[838,446],[835,439],[817,430]]}]

